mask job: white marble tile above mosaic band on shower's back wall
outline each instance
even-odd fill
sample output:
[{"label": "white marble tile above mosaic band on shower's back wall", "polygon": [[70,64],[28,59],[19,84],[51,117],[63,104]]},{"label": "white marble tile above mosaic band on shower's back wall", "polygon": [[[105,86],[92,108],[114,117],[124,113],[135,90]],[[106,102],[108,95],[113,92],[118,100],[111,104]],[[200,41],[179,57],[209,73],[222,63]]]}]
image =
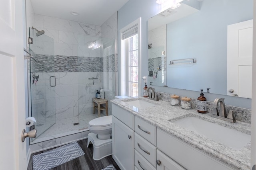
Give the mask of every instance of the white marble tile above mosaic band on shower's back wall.
[{"label": "white marble tile above mosaic band on shower's back wall", "polygon": [[100,26],[39,14],[35,14],[34,17],[34,27],[38,30],[43,29],[44,35],[47,35],[34,37],[32,46],[37,46],[33,48],[36,54],[90,57],[99,51],[88,50],[87,45],[101,37]]}]

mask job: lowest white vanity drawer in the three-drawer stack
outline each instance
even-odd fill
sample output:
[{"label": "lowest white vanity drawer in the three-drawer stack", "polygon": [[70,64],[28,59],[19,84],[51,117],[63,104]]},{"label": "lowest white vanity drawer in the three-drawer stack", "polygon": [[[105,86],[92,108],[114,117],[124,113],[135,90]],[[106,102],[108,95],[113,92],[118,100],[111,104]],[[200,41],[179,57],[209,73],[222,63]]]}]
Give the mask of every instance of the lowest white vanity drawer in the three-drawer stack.
[{"label": "lowest white vanity drawer in the three-drawer stack", "polygon": [[138,170],[156,170],[137,150],[134,150],[134,164]]}]

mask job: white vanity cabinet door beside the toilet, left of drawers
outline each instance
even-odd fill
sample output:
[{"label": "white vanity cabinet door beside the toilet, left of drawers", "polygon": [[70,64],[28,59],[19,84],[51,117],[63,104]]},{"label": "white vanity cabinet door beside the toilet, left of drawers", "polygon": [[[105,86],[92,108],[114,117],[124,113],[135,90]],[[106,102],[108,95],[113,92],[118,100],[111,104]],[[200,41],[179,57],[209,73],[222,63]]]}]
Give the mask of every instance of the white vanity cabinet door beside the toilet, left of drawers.
[{"label": "white vanity cabinet door beside the toilet, left of drawers", "polygon": [[113,158],[122,170],[134,170],[134,131],[112,117]]}]

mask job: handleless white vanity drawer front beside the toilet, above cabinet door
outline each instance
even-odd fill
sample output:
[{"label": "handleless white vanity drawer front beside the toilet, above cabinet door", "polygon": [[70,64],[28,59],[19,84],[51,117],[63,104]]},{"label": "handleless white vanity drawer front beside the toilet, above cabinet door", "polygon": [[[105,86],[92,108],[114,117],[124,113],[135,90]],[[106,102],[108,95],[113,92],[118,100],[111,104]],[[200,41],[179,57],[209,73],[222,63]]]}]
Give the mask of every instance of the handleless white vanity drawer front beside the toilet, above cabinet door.
[{"label": "handleless white vanity drawer front beside the toilet, above cabinet door", "polygon": [[134,115],[132,113],[112,104],[112,115],[134,130]]}]

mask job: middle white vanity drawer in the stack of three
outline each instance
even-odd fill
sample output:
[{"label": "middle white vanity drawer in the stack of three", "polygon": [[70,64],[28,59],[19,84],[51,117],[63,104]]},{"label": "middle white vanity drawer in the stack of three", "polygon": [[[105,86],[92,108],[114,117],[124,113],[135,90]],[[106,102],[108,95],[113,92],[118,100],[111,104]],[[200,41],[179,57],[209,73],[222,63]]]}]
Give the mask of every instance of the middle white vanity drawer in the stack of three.
[{"label": "middle white vanity drawer in the stack of three", "polygon": [[156,147],[138,135],[138,133],[134,133],[134,148],[156,167]]}]

